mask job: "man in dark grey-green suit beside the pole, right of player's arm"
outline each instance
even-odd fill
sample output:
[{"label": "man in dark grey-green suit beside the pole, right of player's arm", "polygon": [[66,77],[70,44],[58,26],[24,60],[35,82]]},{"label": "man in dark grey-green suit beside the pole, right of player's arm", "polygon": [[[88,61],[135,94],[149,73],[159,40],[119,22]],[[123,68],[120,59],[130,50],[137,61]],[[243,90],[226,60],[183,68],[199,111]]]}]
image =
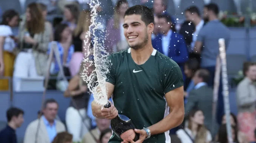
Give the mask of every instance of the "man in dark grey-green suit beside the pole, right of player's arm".
[{"label": "man in dark grey-green suit beside the pole, right of player's arm", "polygon": [[195,84],[194,90],[188,94],[188,103],[185,106],[185,117],[193,108],[202,110],[205,116],[204,125],[213,134],[212,125],[212,103],[213,89],[208,86],[210,73],[206,69],[196,71],[193,81]]}]

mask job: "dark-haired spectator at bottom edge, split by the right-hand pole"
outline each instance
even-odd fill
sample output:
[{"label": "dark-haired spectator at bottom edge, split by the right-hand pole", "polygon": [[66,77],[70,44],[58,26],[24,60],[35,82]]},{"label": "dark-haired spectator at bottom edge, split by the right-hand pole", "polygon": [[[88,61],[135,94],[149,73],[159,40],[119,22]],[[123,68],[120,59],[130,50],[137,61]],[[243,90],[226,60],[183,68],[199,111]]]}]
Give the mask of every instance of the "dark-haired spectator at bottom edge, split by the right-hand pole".
[{"label": "dark-haired spectator at bottom edge, split by the right-hand pole", "polygon": [[[233,143],[239,143],[237,140],[237,131],[235,126],[231,126]],[[219,128],[217,143],[229,143],[226,124],[223,124]]]}]

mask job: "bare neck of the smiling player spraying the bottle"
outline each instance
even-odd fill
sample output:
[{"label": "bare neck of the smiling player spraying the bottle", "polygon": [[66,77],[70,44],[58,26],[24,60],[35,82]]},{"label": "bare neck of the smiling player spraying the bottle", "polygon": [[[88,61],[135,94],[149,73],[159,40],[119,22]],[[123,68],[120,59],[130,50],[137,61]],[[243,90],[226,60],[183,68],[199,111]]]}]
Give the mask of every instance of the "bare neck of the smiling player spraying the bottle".
[{"label": "bare neck of the smiling player spraying the bottle", "polygon": [[[150,37],[149,37],[150,38]],[[145,63],[153,52],[152,44],[147,44],[143,48],[140,49],[133,49],[131,48],[131,57],[133,58],[134,62],[138,65],[142,65]]]}]

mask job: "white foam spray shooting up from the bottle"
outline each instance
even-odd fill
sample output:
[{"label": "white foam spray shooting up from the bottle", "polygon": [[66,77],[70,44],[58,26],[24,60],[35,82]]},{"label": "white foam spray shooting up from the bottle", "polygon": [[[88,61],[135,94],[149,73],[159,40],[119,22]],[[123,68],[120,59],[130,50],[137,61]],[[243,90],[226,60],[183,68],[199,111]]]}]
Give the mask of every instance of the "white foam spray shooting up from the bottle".
[{"label": "white foam spray shooting up from the bottle", "polygon": [[[108,61],[108,52],[105,50],[104,43],[105,35],[104,29],[100,29],[102,27],[102,23],[97,22],[97,18],[101,17],[101,15],[97,14],[97,8],[100,6],[98,0],[91,0],[91,25],[89,26],[90,31],[86,34],[85,45],[90,43],[89,37],[93,36],[93,56],[94,61],[89,59],[89,56],[92,54],[91,46],[84,47],[87,48],[87,53],[85,53],[85,65],[83,65],[84,70],[82,74],[82,78],[86,81],[88,89],[93,93],[94,100],[96,103],[100,105],[105,105],[108,102],[107,90],[106,89],[106,74],[109,72],[109,65],[111,64]],[[100,32],[100,36],[96,36],[96,30]],[[90,68],[95,66],[95,70],[90,72]],[[95,81],[94,78],[97,76],[97,85],[101,90],[97,91],[96,86],[94,86]],[[99,89],[99,88],[98,88]]]}]

